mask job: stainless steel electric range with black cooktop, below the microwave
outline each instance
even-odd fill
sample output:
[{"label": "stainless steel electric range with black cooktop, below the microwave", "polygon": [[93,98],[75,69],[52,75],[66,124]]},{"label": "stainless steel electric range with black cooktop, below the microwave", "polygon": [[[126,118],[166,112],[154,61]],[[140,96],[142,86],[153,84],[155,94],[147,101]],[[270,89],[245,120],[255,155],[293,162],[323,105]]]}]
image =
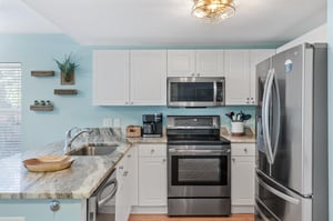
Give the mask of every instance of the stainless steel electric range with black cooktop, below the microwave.
[{"label": "stainless steel electric range with black cooktop, below the microwave", "polygon": [[168,214],[231,213],[230,141],[219,115],[168,115]]}]

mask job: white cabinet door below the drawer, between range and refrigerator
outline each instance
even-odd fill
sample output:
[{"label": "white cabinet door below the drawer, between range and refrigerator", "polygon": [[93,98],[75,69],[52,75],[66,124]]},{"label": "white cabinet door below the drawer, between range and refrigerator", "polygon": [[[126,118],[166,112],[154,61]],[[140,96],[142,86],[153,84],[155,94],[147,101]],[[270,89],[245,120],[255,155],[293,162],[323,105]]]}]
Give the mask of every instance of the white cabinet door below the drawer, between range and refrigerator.
[{"label": "white cabinet door below the drawer, between range and refrigerator", "polygon": [[231,163],[232,205],[254,205],[255,157],[232,157]]}]

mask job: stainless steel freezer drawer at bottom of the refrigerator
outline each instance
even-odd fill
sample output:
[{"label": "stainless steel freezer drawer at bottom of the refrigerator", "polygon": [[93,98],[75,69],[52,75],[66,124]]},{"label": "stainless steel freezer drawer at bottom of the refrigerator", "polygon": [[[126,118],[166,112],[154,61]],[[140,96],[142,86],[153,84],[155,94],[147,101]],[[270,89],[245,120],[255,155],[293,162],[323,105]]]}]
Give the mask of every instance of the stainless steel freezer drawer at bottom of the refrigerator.
[{"label": "stainless steel freezer drawer at bottom of the refrigerator", "polygon": [[312,199],[256,175],[255,221],[312,221]]}]

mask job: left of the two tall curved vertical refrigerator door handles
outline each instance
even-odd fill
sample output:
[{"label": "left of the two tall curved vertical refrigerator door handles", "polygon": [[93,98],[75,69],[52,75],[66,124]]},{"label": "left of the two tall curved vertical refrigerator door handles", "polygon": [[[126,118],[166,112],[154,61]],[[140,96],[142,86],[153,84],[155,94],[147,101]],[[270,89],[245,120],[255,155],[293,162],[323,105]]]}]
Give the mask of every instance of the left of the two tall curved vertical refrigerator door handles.
[{"label": "left of the two tall curved vertical refrigerator door handles", "polygon": [[271,144],[271,137],[270,137],[270,97],[272,92],[272,84],[273,84],[273,70],[270,69],[268,73],[268,78],[265,81],[264,93],[263,93],[263,104],[262,104],[262,128],[263,128],[263,140],[264,147],[266,150],[266,157],[270,164],[273,164],[273,152],[272,152],[272,144]]}]

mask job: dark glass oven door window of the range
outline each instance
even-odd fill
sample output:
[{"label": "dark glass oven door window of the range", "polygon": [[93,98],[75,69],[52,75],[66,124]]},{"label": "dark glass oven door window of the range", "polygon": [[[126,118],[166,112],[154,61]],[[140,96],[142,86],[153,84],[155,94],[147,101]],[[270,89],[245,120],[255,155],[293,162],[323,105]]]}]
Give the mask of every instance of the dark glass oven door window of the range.
[{"label": "dark glass oven door window of the range", "polygon": [[228,157],[172,155],[172,185],[228,185]]}]

